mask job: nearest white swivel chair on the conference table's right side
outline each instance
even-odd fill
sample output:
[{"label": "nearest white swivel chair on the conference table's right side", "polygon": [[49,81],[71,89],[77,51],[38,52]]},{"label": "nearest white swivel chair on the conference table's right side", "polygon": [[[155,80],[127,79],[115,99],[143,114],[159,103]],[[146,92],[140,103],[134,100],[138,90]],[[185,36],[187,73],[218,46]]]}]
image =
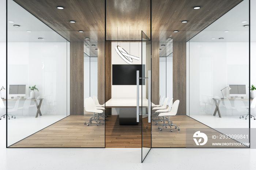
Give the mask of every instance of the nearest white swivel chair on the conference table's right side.
[{"label": "nearest white swivel chair on the conference table's right side", "polygon": [[[167,128],[167,125],[170,126],[171,132],[173,131],[173,130],[172,130],[172,126],[175,126],[175,129],[178,128],[178,131],[180,130],[180,127],[178,127],[177,125],[173,124],[172,121],[170,121],[170,116],[174,116],[174,115],[177,114],[178,107],[179,107],[179,103],[180,103],[180,100],[174,101],[173,107],[172,107],[172,109],[170,110],[170,112],[163,112],[163,113],[160,113],[160,114],[158,115],[158,116],[163,116],[163,117],[164,117],[162,127],[160,127],[161,125],[158,126],[158,129],[160,129],[160,131],[162,131],[162,128],[163,128],[164,126]],[[165,123],[165,117],[166,117],[166,116],[168,116],[167,123]]]}]

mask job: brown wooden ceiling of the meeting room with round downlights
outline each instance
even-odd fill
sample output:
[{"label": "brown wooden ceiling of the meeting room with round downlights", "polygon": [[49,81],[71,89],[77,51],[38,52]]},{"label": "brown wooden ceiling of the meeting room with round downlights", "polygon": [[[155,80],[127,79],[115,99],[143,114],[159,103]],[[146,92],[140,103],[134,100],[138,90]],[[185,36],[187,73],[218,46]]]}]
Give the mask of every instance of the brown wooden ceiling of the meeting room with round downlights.
[{"label": "brown wooden ceiling of the meeting room with round downlights", "polygon": [[[97,46],[91,45],[105,41],[105,0],[14,1],[69,42],[84,42],[91,49],[89,56],[97,55]],[[241,1],[152,0],[151,39],[159,42],[160,56],[172,53],[172,42],[187,42]],[[57,9],[58,5],[64,9]],[[193,9],[197,5],[201,9]],[[106,0],[106,40],[139,40],[141,30],[150,37],[150,0]]]}]

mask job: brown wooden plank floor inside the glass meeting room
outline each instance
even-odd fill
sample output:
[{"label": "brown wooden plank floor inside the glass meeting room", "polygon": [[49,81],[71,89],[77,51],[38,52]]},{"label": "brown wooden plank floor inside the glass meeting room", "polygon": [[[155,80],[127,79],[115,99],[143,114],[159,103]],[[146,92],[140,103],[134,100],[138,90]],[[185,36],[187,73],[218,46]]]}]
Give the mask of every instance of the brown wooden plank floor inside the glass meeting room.
[{"label": "brown wooden plank floor inside the glass meeting room", "polygon": [[[164,127],[160,131],[158,125],[162,122],[155,125],[155,121],[153,121],[153,124],[150,125],[147,123],[147,117],[143,119],[143,127],[141,123],[139,125],[119,125],[119,117],[113,115],[107,117],[104,125],[97,126],[95,122],[89,126],[84,125],[84,121],[89,120],[90,117],[91,114],[88,113],[85,113],[84,116],[68,116],[10,147],[140,148],[142,141],[144,147],[150,147],[151,126],[152,147],[186,147],[186,129],[208,128],[210,133],[217,132],[188,116],[172,116],[173,124],[180,127],[180,131],[173,128],[172,132],[170,127]],[[146,125],[149,125],[148,128]],[[230,141],[234,142],[234,140]]]}]

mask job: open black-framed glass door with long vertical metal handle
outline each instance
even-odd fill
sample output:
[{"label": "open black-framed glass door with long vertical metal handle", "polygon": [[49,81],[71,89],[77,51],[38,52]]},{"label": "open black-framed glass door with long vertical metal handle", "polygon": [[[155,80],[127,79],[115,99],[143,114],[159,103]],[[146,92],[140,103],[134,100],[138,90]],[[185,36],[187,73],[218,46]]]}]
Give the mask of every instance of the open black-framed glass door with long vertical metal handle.
[{"label": "open black-framed glass door with long vertical metal handle", "polygon": [[137,71],[137,121],[142,127],[143,162],[151,149],[151,40],[143,31],[141,75],[139,77],[139,71]]}]

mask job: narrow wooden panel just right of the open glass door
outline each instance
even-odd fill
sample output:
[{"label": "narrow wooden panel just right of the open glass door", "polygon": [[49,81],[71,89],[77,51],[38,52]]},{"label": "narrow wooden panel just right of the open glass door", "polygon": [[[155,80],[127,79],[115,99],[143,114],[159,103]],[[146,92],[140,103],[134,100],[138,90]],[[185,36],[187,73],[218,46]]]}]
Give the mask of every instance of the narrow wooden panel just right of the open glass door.
[{"label": "narrow wooden panel just right of the open glass door", "polygon": [[152,42],[151,89],[152,102],[159,103],[159,42]]}]

